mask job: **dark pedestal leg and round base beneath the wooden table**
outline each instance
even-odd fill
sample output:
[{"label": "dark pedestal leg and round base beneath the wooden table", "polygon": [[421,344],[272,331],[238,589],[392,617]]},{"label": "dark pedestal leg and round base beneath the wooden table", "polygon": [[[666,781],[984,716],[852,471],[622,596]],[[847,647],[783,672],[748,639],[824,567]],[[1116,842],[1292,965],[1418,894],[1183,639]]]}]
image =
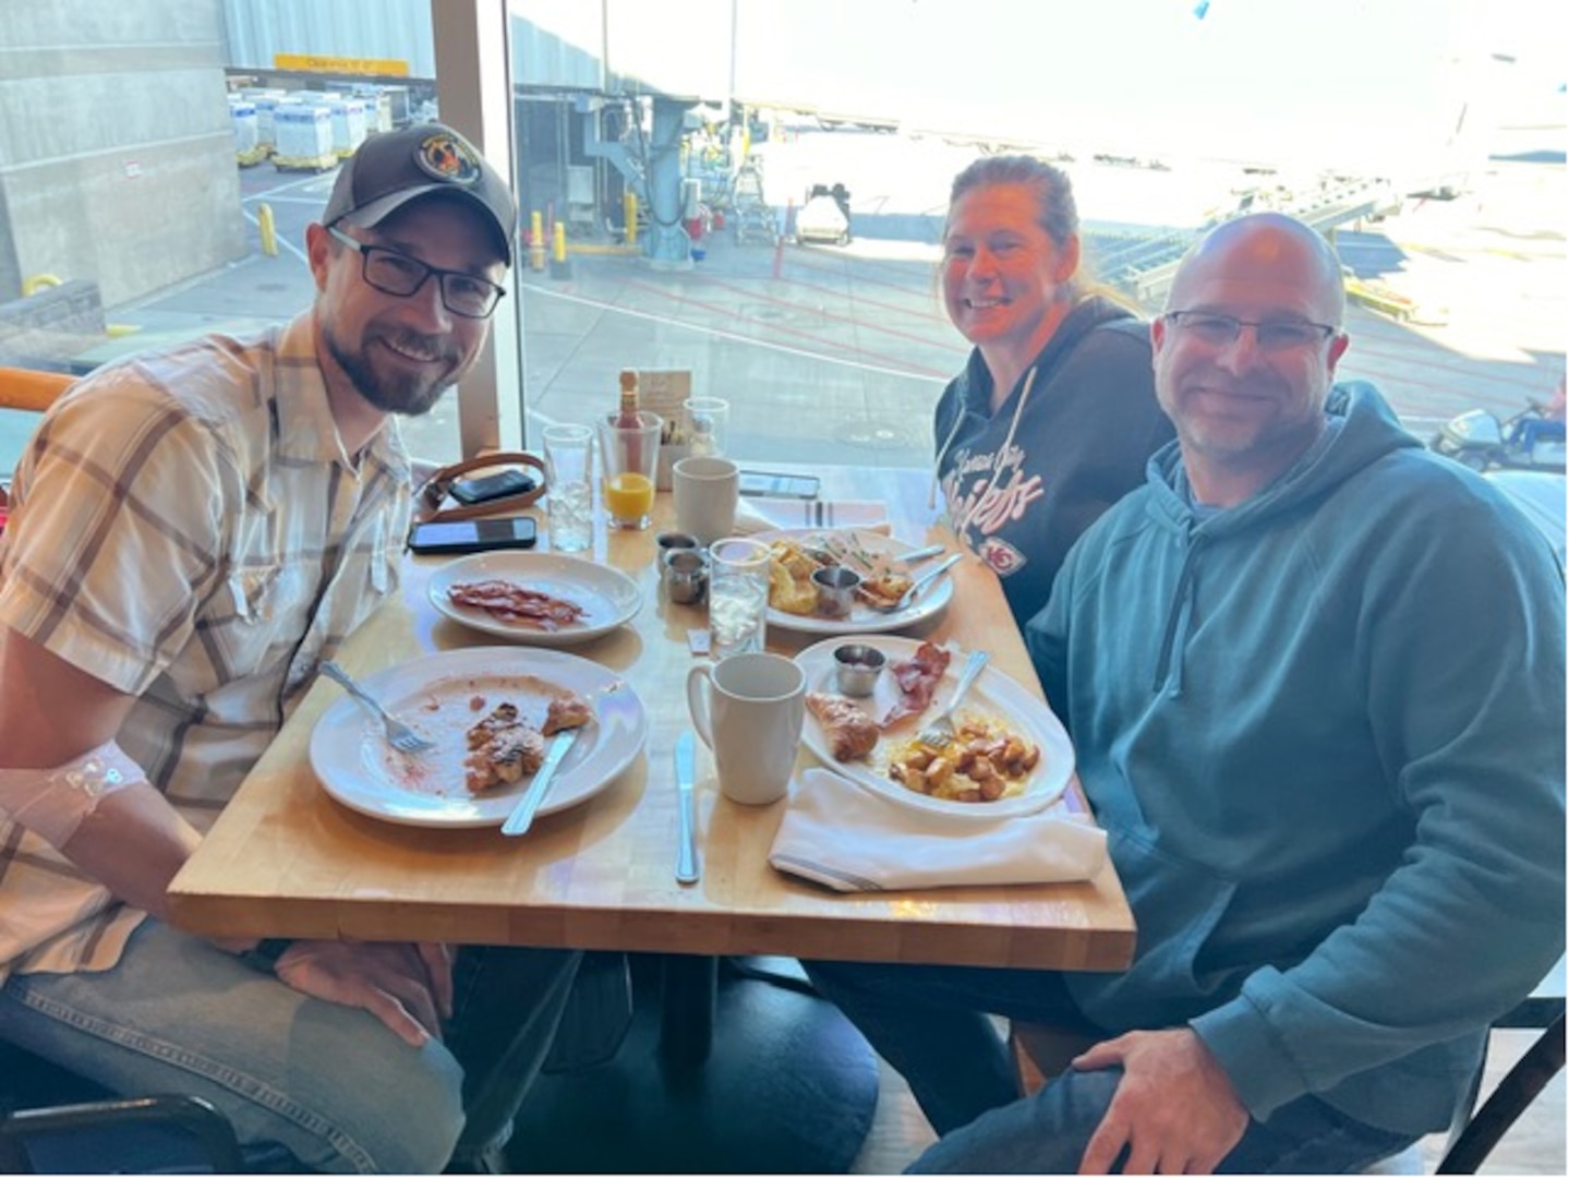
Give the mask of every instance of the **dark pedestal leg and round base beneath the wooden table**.
[{"label": "dark pedestal leg and round base beneath the wooden table", "polygon": [[615,1059],[541,1076],[524,1101],[507,1147],[516,1172],[849,1169],[877,1106],[877,1059],[830,1002],[703,957],[635,955],[632,979],[637,1012]]}]

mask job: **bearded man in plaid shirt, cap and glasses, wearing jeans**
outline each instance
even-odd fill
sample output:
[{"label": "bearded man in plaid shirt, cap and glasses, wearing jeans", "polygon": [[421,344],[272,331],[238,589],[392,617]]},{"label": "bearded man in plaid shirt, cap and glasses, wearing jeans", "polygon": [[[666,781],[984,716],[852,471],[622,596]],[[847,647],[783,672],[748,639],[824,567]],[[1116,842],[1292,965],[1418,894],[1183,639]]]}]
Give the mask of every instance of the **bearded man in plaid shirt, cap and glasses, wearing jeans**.
[{"label": "bearded man in plaid shirt, cap and glasses, wearing jeans", "polygon": [[315,1170],[436,1172],[504,1140],[579,965],[166,922],[317,665],[397,588],[392,419],[474,362],[515,224],[455,132],[372,136],[306,231],[314,306],[80,381],[0,538],[0,1037],[206,1096]]}]

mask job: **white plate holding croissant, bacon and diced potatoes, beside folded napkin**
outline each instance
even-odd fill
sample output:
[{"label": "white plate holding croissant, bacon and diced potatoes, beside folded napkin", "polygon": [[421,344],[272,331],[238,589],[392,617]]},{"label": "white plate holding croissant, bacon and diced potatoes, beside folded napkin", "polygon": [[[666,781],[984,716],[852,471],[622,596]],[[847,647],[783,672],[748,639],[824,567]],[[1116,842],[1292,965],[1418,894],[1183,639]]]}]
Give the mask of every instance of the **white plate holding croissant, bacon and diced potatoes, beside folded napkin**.
[{"label": "white plate holding croissant, bacon and diced potatoes, beside folded napkin", "polygon": [[[886,659],[871,696],[839,693],[833,653],[847,643]],[[819,642],[795,662],[806,674],[806,748],[893,802],[962,819],[1012,817],[1050,806],[1073,778],[1062,723],[995,667],[981,671],[959,706],[954,739],[934,748],[919,737],[959,682],[963,659],[954,651],[869,634]]]}]

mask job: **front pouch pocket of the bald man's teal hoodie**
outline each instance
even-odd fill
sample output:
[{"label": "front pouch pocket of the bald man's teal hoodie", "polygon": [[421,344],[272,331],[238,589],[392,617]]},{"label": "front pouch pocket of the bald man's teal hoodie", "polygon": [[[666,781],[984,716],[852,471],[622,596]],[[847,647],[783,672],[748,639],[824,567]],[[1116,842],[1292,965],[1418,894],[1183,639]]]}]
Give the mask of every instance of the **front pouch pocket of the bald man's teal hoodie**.
[{"label": "front pouch pocket of the bald man's teal hoodie", "polygon": [[1133,908],[1138,947],[1127,973],[1064,976],[1084,1013],[1114,1031],[1161,1027],[1229,999],[1246,971],[1207,969],[1202,958],[1236,885],[1128,831],[1108,831],[1106,849]]}]

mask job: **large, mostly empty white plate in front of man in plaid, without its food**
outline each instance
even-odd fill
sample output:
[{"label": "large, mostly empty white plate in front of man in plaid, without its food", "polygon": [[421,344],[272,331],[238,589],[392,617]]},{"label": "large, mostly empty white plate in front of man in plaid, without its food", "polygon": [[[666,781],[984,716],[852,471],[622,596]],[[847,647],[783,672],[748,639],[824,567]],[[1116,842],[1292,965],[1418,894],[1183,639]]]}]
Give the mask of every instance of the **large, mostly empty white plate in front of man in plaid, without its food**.
[{"label": "large, mostly empty white plate in front of man in plaid, without its food", "polygon": [[[463,734],[504,700],[524,718],[544,718],[549,687],[566,687],[595,712],[555,780],[540,814],[576,806],[609,786],[648,739],[643,701],[613,671],[563,651],[469,646],[441,651],[367,674],[366,690],[417,733],[436,740],[428,753],[394,750],[347,695],[311,733],[311,769],[334,798],[361,814],[411,827],[499,827],[532,778],[471,794],[463,784]],[[485,704],[471,707],[475,696]]]}]

